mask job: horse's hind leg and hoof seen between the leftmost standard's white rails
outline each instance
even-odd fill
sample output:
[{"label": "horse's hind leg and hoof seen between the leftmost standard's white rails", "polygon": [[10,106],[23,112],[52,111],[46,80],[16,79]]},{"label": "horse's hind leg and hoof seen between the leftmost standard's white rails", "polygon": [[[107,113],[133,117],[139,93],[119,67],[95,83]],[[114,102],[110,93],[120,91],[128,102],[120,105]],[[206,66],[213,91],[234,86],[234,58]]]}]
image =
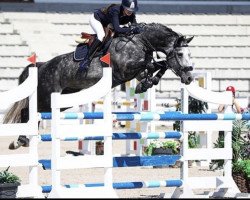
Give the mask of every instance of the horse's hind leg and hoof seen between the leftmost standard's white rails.
[{"label": "horse's hind leg and hoof seen between the leftmost standard's white rails", "polygon": [[[29,109],[23,108],[21,110],[21,123],[27,123],[29,121]],[[9,149],[18,149],[19,147],[29,147],[29,138],[25,135],[19,135],[16,142],[12,142],[9,145]]]}]

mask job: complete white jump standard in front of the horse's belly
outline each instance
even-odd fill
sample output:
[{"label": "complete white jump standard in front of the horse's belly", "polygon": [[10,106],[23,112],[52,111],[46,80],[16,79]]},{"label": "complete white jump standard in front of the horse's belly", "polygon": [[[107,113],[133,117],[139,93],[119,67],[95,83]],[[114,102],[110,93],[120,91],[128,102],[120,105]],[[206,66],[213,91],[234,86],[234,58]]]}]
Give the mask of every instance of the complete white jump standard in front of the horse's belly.
[{"label": "complete white jump standard in front of the horse's belly", "polygon": [[[49,198],[116,198],[112,187],[112,118],[111,118],[111,85],[112,85],[112,69],[103,68],[103,77],[94,86],[73,94],[59,94],[52,93],[51,108],[52,108],[52,191],[49,193]],[[95,92],[96,91],[96,92]],[[60,155],[60,137],[62,130],[69,125],[61,124],[60,108],[79,106],[89,102],[96,101],[104,97],[105,109],[102,120],[102,125],[89,124],[83,127],[81,124],[74,125],[76,132],[90,131],[90,133],[104,136],[104,155],[103,156],[83,156],[65,158]],[[100,127],[101,132],[100,132]],[[71,125],[71,128],[72,125]],[[66,188],[61,185],[60,174],[61,169],[75,169],[75,168],[104,168],[104,186],[99,188]]]}]

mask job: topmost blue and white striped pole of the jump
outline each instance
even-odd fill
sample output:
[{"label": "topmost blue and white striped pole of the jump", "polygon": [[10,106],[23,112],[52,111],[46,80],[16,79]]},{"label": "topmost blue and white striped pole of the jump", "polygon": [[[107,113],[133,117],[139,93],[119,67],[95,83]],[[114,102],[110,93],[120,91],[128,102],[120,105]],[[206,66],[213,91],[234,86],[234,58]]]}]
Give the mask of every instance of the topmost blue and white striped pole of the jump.
[{"label": "topmost blue and white striped pole of the jump", "polygon": [[[112,117],[117,121],[250,120],[249,113],[114,112]],[[39,118],[51,119],[51,113],[40,113]],[[103,112],[61,113],[61,119],[103,119]]]}]

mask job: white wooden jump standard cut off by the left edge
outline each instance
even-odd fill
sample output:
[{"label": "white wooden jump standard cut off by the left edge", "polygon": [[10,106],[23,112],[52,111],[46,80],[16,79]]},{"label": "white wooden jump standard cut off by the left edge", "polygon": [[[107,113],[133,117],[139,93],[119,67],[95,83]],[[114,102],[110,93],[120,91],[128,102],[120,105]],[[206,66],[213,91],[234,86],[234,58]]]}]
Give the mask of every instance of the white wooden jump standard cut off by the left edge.
[{"label": "white wooden jump standard cut off by the left edge", "polygon": [[27,123],[0,125],[0,136],[28,135],[30,139],[29,153],[0,155],[0,167],[29,167],[29,184],[18,187],[17,197],[44,197],[38,185],[37,68],[29,68],[29,76],[21,85],[0,96],[1,107],[29,98],[30,116]]}]

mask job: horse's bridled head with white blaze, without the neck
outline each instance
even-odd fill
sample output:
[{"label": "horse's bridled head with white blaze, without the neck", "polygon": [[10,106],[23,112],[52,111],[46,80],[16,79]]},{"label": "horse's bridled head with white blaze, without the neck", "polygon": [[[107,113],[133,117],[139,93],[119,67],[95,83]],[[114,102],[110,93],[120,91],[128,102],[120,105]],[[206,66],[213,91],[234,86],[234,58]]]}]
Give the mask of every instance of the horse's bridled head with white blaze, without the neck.
[{"label": "horse's bridled head with white blaze, without the neck", "polygon": [[172,71],[181,78],[181,82],[186,85],[193,81],[193,76],[190,71],[193,70],[191,61],[191,53],[188,48],[188,43],[193,37],[185,38],[180,36],[172,49],[167,54],[167,62]]}]

